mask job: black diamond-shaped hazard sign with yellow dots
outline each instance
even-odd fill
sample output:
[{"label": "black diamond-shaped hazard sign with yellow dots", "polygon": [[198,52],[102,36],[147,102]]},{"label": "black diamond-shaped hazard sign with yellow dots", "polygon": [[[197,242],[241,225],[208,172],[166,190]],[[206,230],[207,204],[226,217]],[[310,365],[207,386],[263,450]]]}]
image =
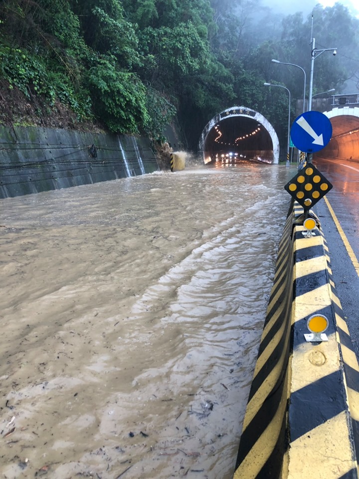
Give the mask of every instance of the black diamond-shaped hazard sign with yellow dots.
[{"label": "black diamond-shaped hazard sign with yellow dots", "polygon": [[332,188],[331,182],[311,163],[307,163],[284,187],[304,210],[310,210]]}]

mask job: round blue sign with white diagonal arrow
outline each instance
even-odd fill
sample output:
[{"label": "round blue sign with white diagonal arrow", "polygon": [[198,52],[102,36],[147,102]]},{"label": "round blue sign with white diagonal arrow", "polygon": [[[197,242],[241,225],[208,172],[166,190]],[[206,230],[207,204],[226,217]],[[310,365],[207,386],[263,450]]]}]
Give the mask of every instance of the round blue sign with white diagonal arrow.
[{"label": "round blue sign with white diagonal arrow", "polygon": [[332,123],[320,111],[307,111],[293,122],[291,138],[300,151],[315,153],[322,150],[332,137]]}]

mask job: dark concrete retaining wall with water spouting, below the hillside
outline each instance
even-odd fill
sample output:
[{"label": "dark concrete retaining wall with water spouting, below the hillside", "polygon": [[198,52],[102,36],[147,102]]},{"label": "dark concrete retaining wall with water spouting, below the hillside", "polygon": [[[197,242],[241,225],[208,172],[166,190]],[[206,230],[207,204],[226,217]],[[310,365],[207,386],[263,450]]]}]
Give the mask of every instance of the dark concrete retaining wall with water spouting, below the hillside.
[{"label": "dark concrete retaining wall with water spouting, below the hillside", "polygon": [[0,127],[0,198],[143,175],[158,169],[146,138]]}]

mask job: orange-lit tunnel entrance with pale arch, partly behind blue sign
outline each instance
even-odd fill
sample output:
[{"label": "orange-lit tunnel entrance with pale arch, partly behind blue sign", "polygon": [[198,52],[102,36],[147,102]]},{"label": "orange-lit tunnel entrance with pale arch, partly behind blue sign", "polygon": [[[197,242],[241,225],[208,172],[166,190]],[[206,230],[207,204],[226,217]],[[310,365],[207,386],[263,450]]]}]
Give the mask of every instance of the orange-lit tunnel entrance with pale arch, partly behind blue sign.
[{"label": "orange-lit tunnel entrance with pale arch, partly behind blue sign", "polygon": [[324,115],[332,123],[333,134],[318,156],[359,160],[359,107],[333,108]]}]

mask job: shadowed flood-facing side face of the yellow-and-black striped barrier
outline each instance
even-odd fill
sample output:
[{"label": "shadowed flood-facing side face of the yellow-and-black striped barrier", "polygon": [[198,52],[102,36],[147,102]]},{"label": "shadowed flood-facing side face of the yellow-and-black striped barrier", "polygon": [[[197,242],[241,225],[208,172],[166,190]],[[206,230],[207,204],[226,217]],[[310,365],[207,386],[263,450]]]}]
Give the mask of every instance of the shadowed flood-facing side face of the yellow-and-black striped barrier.
[{"label": "shadowed flood-facing side face of the yellow-and-black striped barrier", "polygon": [[274,285],[244,417],[234,479],[271,478],[286,446],[288,361],[292,307],[294,212],[279,243]]}]

